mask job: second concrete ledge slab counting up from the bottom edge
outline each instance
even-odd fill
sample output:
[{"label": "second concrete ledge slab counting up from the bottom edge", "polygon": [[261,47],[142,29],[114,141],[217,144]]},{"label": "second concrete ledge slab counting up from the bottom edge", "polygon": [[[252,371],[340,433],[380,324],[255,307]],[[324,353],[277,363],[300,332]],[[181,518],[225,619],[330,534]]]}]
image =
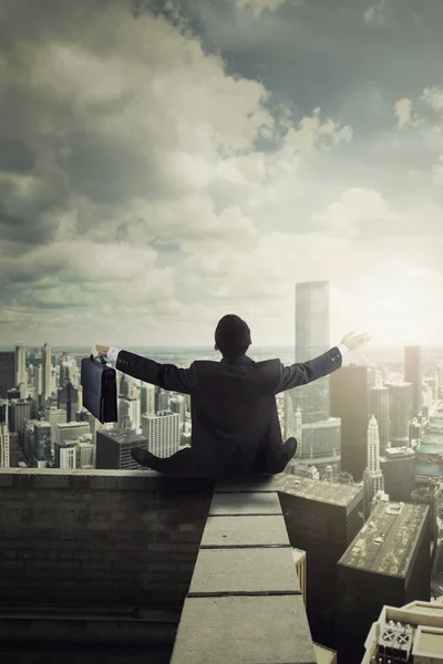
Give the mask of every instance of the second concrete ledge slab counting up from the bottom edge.
[{"label": "second concrete ledge slab counting up from the bottom edge", "polygon": [[291,549],[200,549],[188,596],[229,592],[300,593]]}]

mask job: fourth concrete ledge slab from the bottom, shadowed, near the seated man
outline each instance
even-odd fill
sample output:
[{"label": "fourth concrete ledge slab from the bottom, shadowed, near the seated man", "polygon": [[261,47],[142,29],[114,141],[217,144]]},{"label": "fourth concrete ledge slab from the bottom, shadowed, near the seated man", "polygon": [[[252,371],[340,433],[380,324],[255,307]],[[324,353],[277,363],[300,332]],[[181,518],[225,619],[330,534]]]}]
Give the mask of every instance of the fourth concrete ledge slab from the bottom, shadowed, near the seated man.
[{"label": "fourth concrete ledge slab from the bottom, shadowed, near the seated man", "polygon": [[213,515],[281,515],[280,499],[277,491],[214,494],[209,507]]}]

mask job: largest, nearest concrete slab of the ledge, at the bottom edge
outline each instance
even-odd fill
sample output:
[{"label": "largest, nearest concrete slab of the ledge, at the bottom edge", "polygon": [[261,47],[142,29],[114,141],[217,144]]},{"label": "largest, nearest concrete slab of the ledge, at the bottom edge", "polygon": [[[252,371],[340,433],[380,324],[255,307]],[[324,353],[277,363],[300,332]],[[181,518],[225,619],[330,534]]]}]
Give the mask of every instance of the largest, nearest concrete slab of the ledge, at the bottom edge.
[{"label": "largest, nearest concrete slab of the ledge, at the bottom edge", "polygon": [[300,595],[190,598],[171,664],[316,664]]}]

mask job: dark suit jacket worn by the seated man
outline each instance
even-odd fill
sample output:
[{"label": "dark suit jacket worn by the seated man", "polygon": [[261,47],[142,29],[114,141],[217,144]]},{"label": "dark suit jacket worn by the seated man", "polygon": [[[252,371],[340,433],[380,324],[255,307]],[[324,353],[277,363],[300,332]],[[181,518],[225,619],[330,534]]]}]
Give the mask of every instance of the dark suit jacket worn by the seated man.
[{"label": "dark suit jacket worn by the seated man", "polygon": [[336,346],[305,363],[195,361],[189,369],[120,351],[116,369],[164,390],[190,395],[192,448],[203,474],[274,473],[282,439],[276,394],[307,385],[342,364]]}]

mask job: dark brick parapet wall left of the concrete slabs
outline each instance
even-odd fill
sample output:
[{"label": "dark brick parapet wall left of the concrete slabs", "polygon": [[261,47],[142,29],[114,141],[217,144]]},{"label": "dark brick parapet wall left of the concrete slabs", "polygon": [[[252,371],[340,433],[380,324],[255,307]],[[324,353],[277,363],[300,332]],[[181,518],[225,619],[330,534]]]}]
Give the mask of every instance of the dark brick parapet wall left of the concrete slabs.
[{"label": "dark brick parapet wall left of the concrete slabs", "polygon": [[1,604],[181,606],[213,488],[151,471],[1,469]]}]

